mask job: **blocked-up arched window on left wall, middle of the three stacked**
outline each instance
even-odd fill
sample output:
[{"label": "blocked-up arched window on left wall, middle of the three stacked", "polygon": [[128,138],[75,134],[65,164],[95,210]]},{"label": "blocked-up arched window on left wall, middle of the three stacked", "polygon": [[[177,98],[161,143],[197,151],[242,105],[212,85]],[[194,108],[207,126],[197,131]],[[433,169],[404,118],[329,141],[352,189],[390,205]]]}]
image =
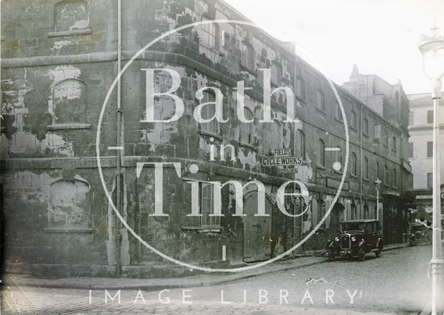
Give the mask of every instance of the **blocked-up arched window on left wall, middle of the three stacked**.
[{"label": "blocked-up arched window on left wall, middle of the three stacked", "polygon": [[53,124],[86,123],[87,86],[76,79],[53,87]]}]

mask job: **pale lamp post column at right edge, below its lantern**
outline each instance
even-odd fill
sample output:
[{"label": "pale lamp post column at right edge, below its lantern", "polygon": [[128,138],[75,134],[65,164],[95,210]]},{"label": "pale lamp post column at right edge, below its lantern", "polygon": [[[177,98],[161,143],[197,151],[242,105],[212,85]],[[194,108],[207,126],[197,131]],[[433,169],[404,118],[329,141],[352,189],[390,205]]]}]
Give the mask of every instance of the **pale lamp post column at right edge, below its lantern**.
[{"label": "pale lamp post column at right edge, below its lantern", "polygon": [[441,188],[440,188],[440,170],[439,170],[439,118],[438,105],[441,80],[432,80],[432,100],[433,100],[433,251],[430,267],[432,269],[432,314],[443,314],[443,252],[441,249]]}]

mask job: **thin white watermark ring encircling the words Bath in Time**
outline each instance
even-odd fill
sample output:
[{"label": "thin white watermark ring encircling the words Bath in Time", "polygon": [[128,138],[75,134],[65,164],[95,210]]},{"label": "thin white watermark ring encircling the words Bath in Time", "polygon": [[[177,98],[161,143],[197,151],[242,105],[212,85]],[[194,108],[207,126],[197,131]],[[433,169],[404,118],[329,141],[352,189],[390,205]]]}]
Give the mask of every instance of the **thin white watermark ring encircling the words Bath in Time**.
[{"label": "thin white watermark ring encircling the words Bath in Time", "polygon": [[[114,205],[114,201],[112,201],[112,196],[110,195],[110,192],[108,192],[108,188],[106,187],[105,179],[103,178],[103,172],[102,172],[101,160],[100,160],[100,136],[101,136],[101,124],[102,124],[102,120],[103,120],[103,114],[105,113],[106,105],[108,104],[108,101],[110,100],[110,96],[111,96],[112,91],[114,90],[114,87],[116,86],[117,82],[119,82],[122,74],[126,71],[126,69],[128,69],[130,64],[132,64],[134,62],[134,60],[137,57],[139,57],[139,55],[142,55],[142,53],[144,51],[146,51],[146,49],[148,49],[150,46],[152,46],[156,42],[160,41],[161,39],[163,39],[163,38],[165,38],[165,37],[167,37],[167,36],[169,36],[169,35],[171,35],[173,33],[177,33],[180,30],[185,30],[186,28],[191,28],[191,27],[194,27],[194,26],[201,26],[201,25],[205,25],[205,24],[212,24],[212,23],[216,23],[216,24],[239,24],[239,25],[253,26],[255,28],[258,28],[257,25],[255,25],[255,24],[253,24],[251,22],[247,22],[247,21],[237,21],[237,20],[230,20],[230,19],[218,19],[218,20],[199,21],[199,22],[194,22],[194,23],[191,23],[191,24],[186,24],[186,25],[180,26],[178,28],[174,28],[173,30],[169,30],[167,33],[164,33],[164,34],[160,35],[159,37],[156,37],[151,42],[146,44],[146,46],[141,48],[137,53],[135,53],[135,55],[133,55],[133,57],[131,57],[131,59],[119,71],[119,73],[117,74],[117,77],[112,82],[111,87],[110,87],[110,89],[108,90],[108,93],[105,96],[105,100],[103,100],[103,105],[102,105],[102,108],[101,108],[101,111],[100,111],[99,122],[98,122],[98,125],[97,125],[97,132],[96,132],[96,160],[97,160],[97,168],[99,169],[99,177],[101,179],[103,190],[105,191],[105,195],[108,198],[108,201],[110,202],[110,205],[112,206],[112,210],[114,210],[115,215],[119,218],[119,220],[121,221],[123,226],[131,233],[131,235],[133,235],[133,237],[135,237],[139,242],[144,244],[144,246],[146,246],[146,248],[150,249],[151,251],[153,251],[157,255],[160,255],[162,258],[164,258],[166,260],[169,260],[170,262],[173,262],[175,264],[179,264],[179,265],[181,265],[183,267],[187,267],[189,269],[196,269],[196,270],[206,271],[206,272],[239,272],[239,271],[247,271],[247,270],[255,269],[257,267],[265,266],[266,264],[269,264],[271,262],[275,262],[276,260],[280,260],[281,258],[284,258],[286,255],[289,255],[289,253],[291,253],[295,249],[298,249],[299,246],[301,246],[302,244],[307,242],[307,240],[311,237],[311,235],[316,233],[318,228],[321,227],[321,225],[325,222],[325,219],[327,219],[327,217],[330,215],[330,212],[332,211],[334,205],[336,204],[336,201],[339,198],[339,194],[340,194],[340,192],[342,190],[342,186],[343,186],[343,183],[344,183],[344,180],[345,180],[345,174],[347,173],[347,168],[348,168],[348,154],[349,154],[349,152],[348,152],[348,150],[349,150],[348,123],[347,123],[347,118],[345,116],[345,111],[343,109],[343,105],[342,105],[342,102],[341,102],[341,98],[339,97],[339,94],[336,91],[336,88],[334,87],[333,82],[329,78],[327,78],[327,76],[322,71],[320,71],[321,74],[323,74],[324,77],[327,79],[328,83],[330,84],[330,87],[332,88],[332,90],[334,92],[334,95],[336,96],[336,100],[339,103],[339,107],[341,108],[341,113],[342,113],[342,116],[343,116],[343,123],[344,123],[344,127],[345,127],[345,165],[344,165],[344,170],[343,170],[343,174],[342,174],[342,177],[341,177],[341,182],[339,183],[339,188],[338,188],[338,190],[336,192],[336,195],[334,196],[332,204],[330,204],[329,209],[325,212],[325,215],[318,222],[318,224],[302,240],[300,240],[300,242],[298,242],[298,244],[295,244],[293,247],[291,247],[291,249],[289,249],[289,250],[285,251],[284,253],[281,253],[280,255],[277,255],[277,256],[269,259],[269,260],[266,260],[264,262],[258,262],[257,264],[252,264],[252,265],[249,265],[249,266],[246,266],[246,267],[237,267],[237,268],[208,268],[208,267],[197,266],[195,264],[189,264],[187,262],[181,262],[180,260],[176,260],[175,258],[172,258],[169,255],[165,255],[161,251],[155,249],[153,246],[148,244],[145,240],[143,240],[142,237],[140,237],[137,233],[135,233],[133,228],[131,228],[128,225],[126,220],[123,219],[123,217],[119,213],[119,210],[117,210],[116,206]],[[316,66],[318,67],[318,69],[321,69],[318,66],[318,64],[316,64]],[[120,135],[117,135],[117,136],[120,136]],[[118,163],[120,163],[120,161],[118,161]]]}]

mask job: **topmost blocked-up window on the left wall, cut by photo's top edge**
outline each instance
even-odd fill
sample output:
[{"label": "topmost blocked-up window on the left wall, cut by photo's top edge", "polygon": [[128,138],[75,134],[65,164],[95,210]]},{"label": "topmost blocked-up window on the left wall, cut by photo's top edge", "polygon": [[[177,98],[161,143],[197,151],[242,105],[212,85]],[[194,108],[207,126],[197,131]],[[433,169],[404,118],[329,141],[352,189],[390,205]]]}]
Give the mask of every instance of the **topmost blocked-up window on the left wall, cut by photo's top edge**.
[{"label": "topmost blocked-up window on the left wall, cut by photo's top edge", "polygon": [[85,30],[89,26],[88,6],[83,0],[65,0],[54,6],[54,30]]}]

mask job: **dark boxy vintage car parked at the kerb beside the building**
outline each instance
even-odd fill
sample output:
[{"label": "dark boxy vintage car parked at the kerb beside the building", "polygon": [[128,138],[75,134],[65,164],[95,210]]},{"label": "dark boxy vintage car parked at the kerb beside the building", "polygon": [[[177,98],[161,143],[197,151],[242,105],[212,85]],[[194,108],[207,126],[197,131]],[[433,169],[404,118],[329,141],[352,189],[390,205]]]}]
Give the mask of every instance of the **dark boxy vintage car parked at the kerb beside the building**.
[{"label": "dark boxy vintage car parked at the kerb beside the building", "polygon": [[381,238],[379,221],[375,219],[355,219],[340,222],[340,233],[334,240],[327,242],[328,258],[336,256],[357,257],[366,259],[366,253],[374,252],[381,255],[384,243]]}]

